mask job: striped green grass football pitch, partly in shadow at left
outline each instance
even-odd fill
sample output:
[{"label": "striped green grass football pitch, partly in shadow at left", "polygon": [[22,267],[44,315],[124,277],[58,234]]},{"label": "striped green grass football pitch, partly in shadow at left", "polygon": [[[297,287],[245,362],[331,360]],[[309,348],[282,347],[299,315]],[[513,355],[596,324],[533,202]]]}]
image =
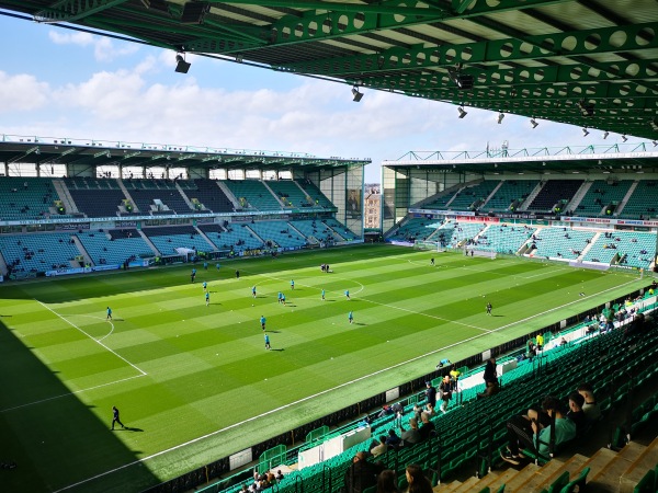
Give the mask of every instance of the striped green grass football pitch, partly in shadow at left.
[{"label": "striped green grass football pitch, partly in shadow at left", "polygon": [[642,283],[390,245],[222,264],[0,286],[3,491],[140,491]]}]

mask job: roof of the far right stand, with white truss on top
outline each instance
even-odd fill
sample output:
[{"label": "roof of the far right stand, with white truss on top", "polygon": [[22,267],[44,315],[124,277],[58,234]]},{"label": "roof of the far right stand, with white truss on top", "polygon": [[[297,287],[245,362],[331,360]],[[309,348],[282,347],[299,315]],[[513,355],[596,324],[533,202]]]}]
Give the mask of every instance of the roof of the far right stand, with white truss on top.
[{"label": "roof of the far right stand, with white truss on top", "polygon": [[643,175],[658,173],[658,147],[646,144],[571,146],[538,149],[488,149],[483,151],[410,151],[386,168],[476,174],[587,174]]}]

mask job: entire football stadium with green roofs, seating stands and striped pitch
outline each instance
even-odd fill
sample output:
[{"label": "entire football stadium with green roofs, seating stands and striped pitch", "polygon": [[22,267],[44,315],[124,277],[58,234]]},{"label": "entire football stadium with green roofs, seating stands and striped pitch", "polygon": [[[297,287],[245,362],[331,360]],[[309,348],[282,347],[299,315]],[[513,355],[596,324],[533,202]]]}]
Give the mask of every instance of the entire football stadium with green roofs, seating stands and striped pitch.
[{"label": "entire football stadium with green roofs, seating stands and striped pitch", "polygon": [[0,9],[624,141],[408,151],[366,230],[368,159],[2,134],[2,491],[658,491],[655,2]]}]

